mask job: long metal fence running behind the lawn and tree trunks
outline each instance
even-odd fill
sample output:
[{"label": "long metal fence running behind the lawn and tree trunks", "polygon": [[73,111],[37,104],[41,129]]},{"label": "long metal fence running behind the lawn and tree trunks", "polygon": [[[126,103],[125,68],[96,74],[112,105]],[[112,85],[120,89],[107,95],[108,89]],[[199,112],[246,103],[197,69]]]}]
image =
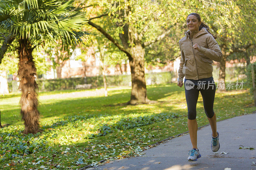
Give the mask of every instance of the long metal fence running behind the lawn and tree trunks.
[{"label": "long metal fence running behind the lawn and tree trunks", "polygon": [[[226,68],[226,80],[240,78],[245,76],[246,66],[236,66]],[[217,82],[219,78],[219,68],[213,66],[212,72],[214,81]],[[147,85],[159,85],[177,82],[177,73],[173,71],[147,73],[145,75]],[[115,75],[106,76],[108,86],[131,86],[131,75]],[[103,76],[94,77],[80,77],[80,78],[58,78],[58,79],[37,79],[39,92],[75,89],[76,85],[92,84],[92,88],[103,87]],[[8,82],[9,91],[18,91],[17,81]]]}]

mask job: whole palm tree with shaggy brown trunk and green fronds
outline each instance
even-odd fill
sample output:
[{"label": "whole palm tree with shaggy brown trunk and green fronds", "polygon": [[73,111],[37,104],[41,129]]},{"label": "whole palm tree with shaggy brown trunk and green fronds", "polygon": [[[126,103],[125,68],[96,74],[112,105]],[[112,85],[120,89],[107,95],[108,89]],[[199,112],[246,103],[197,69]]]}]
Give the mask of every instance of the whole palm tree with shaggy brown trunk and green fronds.
[{"label": "whole palm tree with shaggy brown trunk and green fronds", "polygon": [[[24,133],[39,132],[37,110],[36,67],[32,51],[56,40],[62,48],[87,40],[89,32],[82,30],[87,22],[84,12],[74,7],[73,0],[0,0],[0,31],[4,42],[16,42],[19,58],[18,76],[21,90],[21,116]],[[8,47],[3,43],[1,55]],[[3,48],[4,46],[4,48]],[[4,50],[2,50],[4,49]],[[2,58],[1,58],[2,59]]]}]

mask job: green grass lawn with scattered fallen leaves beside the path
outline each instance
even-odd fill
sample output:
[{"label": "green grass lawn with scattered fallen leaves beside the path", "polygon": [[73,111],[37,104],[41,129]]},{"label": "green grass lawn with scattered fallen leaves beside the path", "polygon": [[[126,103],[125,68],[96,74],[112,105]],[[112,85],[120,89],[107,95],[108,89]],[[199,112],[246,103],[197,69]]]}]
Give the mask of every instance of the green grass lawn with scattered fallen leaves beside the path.
[{"label": "green grass lawn with scattered fallen leaves beside the path", "polygon": [[[61,91],[72,92],[75,90]],[[188,130],[184,86],[147,86],[147,92],[150,100],[159,102],[125,105],[130,99],[130,87],[110,88],[108,97],[63,98],[58,96],[60,91],[39,93],[44,96],[39,98],[38,107],[43,132],[36,135],[22,134],[20,95],[1,96],[1,122],[10,126],[0,129],[0,166],[3,169],[79,169],[88,164],[98,165],[102,159],[138,156],[152,147],[151,144]],[[217,121],[253,111],[249,90],[215,94]],[[197,122],[198,127],[208,124],[201,94]]]}]

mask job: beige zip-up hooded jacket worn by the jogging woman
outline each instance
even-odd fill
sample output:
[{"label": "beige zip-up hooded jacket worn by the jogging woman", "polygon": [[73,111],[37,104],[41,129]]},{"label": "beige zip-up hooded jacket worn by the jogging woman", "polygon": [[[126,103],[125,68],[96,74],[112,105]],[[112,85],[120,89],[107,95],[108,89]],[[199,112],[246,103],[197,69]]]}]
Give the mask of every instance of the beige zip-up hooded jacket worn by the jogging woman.
[{"label": "beige zip-up hooded jacket worn by the jogging woman", "polygon": [[[178,81],[183,81],[184,76],[193,80],[212,77],[212,60],[216,62],[222,60],[218,43],[205,28],[192,31],[192,40],[189,39],[189,34],[190,31],[186,31],[185,37],[179,41],[181,59]],[[194,44],[201,46],[199,51],[193,48]]]}]

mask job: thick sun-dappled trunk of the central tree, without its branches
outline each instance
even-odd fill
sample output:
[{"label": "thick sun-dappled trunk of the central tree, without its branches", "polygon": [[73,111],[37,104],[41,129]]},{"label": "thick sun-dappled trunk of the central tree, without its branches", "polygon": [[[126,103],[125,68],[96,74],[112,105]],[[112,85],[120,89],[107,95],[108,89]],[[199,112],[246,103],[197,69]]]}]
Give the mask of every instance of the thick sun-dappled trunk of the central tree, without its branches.
[{"label": "thick sun-dappled trunk of the central tree, without its branches", "polygon": [[132,47],[132,56],[128,56],[132,76],[131,100],[128,101],[128,104],[143,104],[150,101],[147,97],[144,72],[144,54],[145,51],[141,44],[137,44]]}]

